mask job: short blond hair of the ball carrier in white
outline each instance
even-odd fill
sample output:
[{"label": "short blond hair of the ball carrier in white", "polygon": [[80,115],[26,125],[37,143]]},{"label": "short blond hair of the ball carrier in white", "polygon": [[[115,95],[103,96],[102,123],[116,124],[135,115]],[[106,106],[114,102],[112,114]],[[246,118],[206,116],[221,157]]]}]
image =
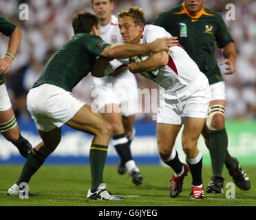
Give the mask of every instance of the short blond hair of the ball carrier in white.
[{"label": "short blond hair of the ball carrier in white", "polygon": [[118,19],[126,16],[134,19],[135,25],[140,25],[141,23],[143,23],[144,25],[146,24],[145,14],[140,7],[132,6],[131,8],[127,8],[118,13]]}]

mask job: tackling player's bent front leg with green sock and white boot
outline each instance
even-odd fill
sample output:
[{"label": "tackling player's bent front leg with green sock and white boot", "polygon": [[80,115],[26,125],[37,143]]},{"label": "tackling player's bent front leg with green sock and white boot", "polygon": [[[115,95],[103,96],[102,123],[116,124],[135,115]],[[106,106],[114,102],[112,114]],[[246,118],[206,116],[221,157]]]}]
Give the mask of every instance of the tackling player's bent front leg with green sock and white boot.
[{"label": "tackling player's bent front leg with green sock and white boot", "polygon": [[106,190],[103,183],[103,170],[107,157],[107,148],[111,137],[111,126],[100,115],[94,113],[88,105],[84,105],[74,117],[66,123],[73,129],[94,135],[89,151],[92,187],[88,199],[123,200]]}]

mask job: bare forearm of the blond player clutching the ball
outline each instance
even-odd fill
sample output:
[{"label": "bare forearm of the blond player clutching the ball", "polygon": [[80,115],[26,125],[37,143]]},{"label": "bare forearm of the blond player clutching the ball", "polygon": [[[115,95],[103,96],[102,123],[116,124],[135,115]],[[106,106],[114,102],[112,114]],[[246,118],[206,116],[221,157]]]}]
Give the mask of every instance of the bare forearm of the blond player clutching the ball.
[{"label": "bare forearm of the blond player clutching the ball", "polygon": [[[130,59],[131,61],[131,59]],[[150,72],[156,69],[160,69],[168,64],[169,54],[165,51],[158,52],[149,56],[145,61],[138,63],[130,62],[129,71],[132,73],[138,72]]]}]

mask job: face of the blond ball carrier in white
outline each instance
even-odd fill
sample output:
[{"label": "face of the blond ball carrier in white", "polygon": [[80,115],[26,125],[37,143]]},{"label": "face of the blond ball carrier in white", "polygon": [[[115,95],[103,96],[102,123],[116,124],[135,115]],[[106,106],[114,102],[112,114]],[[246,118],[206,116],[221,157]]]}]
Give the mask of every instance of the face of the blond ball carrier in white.
[{"label": "face of the blond ball carrier in white", "polygon": [[125,16],[118,19],[118,26],[125,43],[139,43],[144,25],[135,25],[134,19]]}]

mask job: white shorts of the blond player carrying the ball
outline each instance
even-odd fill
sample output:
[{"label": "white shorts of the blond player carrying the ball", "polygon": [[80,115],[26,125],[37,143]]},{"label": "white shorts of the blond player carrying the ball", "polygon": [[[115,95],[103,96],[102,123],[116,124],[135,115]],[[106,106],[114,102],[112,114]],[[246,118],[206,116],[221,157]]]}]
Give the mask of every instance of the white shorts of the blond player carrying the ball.
[{"label": "white shorts of the blond player carrying the ball", "polygon": [[176,93],[160,88],[157,122],[182,124],[184,117],[207,118],[210,98],[209,82],[204,75]]}]

